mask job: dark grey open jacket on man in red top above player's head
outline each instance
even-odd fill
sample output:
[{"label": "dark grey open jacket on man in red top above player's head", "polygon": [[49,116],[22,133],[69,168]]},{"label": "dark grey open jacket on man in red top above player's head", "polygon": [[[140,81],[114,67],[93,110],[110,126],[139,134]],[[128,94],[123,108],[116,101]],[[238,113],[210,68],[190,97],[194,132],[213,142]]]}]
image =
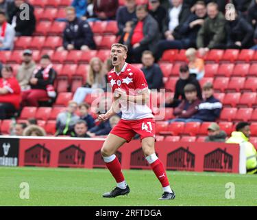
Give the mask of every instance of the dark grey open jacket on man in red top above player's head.
[{"label": "dark grey open jacket on man in red top above player's head", "polygon": [[[130,32],[130,37],[128,40],[128,44],[130,44],[132,35],[134,32],[134,28],[136,28],[136,24],[138,21],[134,22],[134,25],[132,27],[132,32]],[[156,45],[158,43],[158,40],[160,39],[160,32],[158,28],[158,23],[157,21],[151,16],[151,14],[148,14],[147,17],[143,21],[143,34],[144,38],[142,41],[140,41],[140,45],[148,45],[149,50],[151,52],[156,51]]]}]

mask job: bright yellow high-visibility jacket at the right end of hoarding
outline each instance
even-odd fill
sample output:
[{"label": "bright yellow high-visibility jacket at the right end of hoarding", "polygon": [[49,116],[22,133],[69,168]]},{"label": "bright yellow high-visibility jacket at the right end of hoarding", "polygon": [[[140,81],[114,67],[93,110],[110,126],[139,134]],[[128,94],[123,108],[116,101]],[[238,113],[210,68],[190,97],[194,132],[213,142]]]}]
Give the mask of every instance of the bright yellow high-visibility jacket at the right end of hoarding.
[{"label": "bright yellow high-visibility jacket at the right end of hoarding", "polygon": [[245,145],[245,155],[246,155],[246,170],[247,173],[253,174],[257,172],[257,151],[254,145],[249,142],[249,139],[245,137],[243,132],[234,131],[231,137],[226,141],[230,144],[241,144]]}]

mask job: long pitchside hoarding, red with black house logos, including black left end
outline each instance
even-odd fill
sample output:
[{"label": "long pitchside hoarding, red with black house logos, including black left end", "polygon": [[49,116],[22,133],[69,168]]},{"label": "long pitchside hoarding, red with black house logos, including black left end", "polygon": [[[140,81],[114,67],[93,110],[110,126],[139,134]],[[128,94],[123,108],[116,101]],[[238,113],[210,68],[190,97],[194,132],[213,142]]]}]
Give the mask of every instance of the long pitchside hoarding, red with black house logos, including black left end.
[{"label": "long pitchside hoarding, red with black house logos, including black left end", "polygon": [[[0,137],[0,166],[105,168],[102,138]],[[243,146],[225,143],[156,142],[167,170],[245,173]],[[149,169],[140,141],[119,148],[123,169]]]}]

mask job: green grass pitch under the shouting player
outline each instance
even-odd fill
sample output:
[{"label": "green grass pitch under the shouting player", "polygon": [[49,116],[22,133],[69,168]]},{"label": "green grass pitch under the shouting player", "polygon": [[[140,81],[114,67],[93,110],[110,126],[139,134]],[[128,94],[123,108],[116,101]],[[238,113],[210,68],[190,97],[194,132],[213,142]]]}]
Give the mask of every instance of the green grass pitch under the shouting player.
[{"label": "green grass pitch under the shouting player", "polygon": [[[0,206],[257,206],[257,175],[168,171],[176,198],[159,201],[162,188],[151,170],[124,170],[128,196],[102,198],[116,184],[106,169],[0,167]],[[21,182],[29,199],[20,199]],[[225,184],[235,198],[225,198]]]}]

